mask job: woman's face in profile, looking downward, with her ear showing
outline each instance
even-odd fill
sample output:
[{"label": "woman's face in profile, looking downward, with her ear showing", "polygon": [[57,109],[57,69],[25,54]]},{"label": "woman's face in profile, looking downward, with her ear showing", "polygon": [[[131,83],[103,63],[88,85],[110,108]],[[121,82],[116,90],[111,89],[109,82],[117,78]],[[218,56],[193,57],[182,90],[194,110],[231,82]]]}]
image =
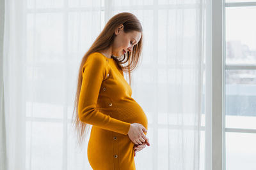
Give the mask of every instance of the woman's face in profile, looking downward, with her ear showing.
[{"label": "woman's face in profile, looking downward, with her ear showing", "polygon": [[141,32],[132,31],[125,33],[124,25],[120,25],[115,30],[116,37],[112,46],[112,54],[114,56],[122,56],[124,53],[132,52],[134,45],[138,44],[141,38]]}]

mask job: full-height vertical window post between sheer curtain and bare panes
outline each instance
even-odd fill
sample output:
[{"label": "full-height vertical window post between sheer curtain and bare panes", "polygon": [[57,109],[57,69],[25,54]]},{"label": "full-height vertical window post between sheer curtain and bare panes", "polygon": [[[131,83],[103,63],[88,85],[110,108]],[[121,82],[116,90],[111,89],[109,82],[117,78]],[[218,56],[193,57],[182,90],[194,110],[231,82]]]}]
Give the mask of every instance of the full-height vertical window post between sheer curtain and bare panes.
[{"label": "full-height vertical window post between sheer curtain and bare panes", "polygon": [[205,6],[205,169],[223,169],[223,0]]}]

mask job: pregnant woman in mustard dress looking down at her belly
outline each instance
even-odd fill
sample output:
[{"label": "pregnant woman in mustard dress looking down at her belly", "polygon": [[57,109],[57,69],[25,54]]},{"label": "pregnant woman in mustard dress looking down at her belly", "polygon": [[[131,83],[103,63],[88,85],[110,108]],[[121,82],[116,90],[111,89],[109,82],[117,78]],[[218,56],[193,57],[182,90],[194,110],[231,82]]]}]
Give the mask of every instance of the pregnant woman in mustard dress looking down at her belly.
[{"label": "pregnant woman in mustard dress looking down at her belly", "polygon": [[140,21],[132,13],[118,13],[81,60],[73,117],[79,141],[87,125],[93,125],[87,148],[93,170],[136,169],[135,153],[150,145],[147,116],[131,97],[130,72],[141,48]]}]

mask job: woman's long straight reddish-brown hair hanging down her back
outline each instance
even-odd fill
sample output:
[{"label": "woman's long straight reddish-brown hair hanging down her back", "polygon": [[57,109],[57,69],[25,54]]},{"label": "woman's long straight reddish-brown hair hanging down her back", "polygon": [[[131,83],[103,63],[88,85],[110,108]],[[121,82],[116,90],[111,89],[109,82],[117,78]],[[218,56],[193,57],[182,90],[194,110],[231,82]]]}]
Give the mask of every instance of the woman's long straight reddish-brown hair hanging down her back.
[{"label": "woman's long straight reddish-brown hair hanging down her back", "polygon": [[[78,111],[77,111],[79,95],[80,95],[82,79],[83,79],[81,69],[83,68],[84,63],[86,62],[88,55],[90,55],[93,52],[100,52],[100,51],[106,50],[113,44],[113,41],[116,36],[115,29],[120,24],[124,25],[125,33],[132,32],[132,31],[141,32],[141,39],[137,43],[137,45],[133,46],[131,53],[127,52],[128,55],[127,56],[124,55],[122,59],[117,59],[116,57],[113,58],[116,61],[117,66],[120,69],[122,69],[122,71],[129,74],[129,85],[131,85],[131,72],[138,66],[138,61],[140,60],[140,55],[141,55],[141,50],[143,45],[142,44],[143,30],[142,30],[140,21],[132,13],[128,13],[128,12],[118,13],[117,15],[110,18],[110,20],[105,25],[102,32],[100,32],[99,36],[95,39],[92,46],[84,54],[83,59],[81,60],[81,64],[79,67],[79,74],[77,78],[77,92],[76,92],[74,110],[72,115],[72,124],[73,126],[75,125],[76,127],[75,130],[78,137],[77,141],[79,146],[81,146],[81,144],[84,141],[84,138],[86,138],[86,134],[88,133],[88,130],[89,130],[88,127],[90,127],[90,124],[81,122],[78,116]],[[123,64],[127,62],[128,62],[127,66],[123,66]],[[85,131],[86,131],[86,134],[84,133]]]}]

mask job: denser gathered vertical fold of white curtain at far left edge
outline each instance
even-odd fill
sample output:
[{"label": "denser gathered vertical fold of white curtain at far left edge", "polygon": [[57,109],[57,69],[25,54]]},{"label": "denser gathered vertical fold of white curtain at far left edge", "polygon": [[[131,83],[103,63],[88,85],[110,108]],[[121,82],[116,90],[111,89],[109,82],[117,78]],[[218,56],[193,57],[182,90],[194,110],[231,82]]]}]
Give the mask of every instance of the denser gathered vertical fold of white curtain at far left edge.
[{"label": "denser gathered vertical fold of white curtain at far left edge", "polygon": [[4,1],[3,113],[6,169],[22,169],[26,157],[24,2]]}]

